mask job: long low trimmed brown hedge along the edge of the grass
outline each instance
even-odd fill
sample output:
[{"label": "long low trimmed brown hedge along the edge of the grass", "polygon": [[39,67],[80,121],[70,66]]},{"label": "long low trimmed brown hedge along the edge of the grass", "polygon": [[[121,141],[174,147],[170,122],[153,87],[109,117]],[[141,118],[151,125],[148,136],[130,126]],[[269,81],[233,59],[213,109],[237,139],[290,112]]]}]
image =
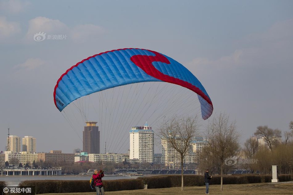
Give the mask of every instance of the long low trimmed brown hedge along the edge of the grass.
[{"label": "long low trimmed brown hedge along the edge of the grass", "polygon": [[[184,186],[205,185],[203,175],[184,175]],[[271,182],[271,175],[224,175],[223,184],[248,184]],[[292,181],[293,175],[279,175],[280,182]],[[0,182],[1,184],[1,182]],[[138,177],[137,179],[103,180],[105,191],[170,188],[181,186],[181,175],[157,175]],[[211,184],[221,184],[221,176],[214,175]],[[35,186],[32,194],[92,192],[88,180],[31,180],[19,183],[19,186]]]}]

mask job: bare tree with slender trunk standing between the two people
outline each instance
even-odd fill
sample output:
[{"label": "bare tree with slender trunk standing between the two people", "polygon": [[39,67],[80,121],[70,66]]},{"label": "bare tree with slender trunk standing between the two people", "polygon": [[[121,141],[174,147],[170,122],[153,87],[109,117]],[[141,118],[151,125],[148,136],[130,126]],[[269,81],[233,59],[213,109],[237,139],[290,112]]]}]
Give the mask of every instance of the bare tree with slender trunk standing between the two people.
[{"label": "bare tree with slender trunk standing between the two people", "polygon": [[183,191],[183,162],[190,150],[190,142],[197,135],[199,124],[195,117],[173,117],[159,128],[159,136],[166,140],[180,155],[181,191]]}]

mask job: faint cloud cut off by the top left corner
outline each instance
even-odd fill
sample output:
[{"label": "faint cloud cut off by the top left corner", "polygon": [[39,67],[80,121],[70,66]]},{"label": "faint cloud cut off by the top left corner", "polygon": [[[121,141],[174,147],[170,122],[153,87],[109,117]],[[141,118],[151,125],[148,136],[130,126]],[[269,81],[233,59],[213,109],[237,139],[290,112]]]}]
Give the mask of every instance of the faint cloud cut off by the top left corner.
[{"label": "faint cloud cut off by the top left corner", "polygon": [[17,14],[28,8],[30,3],[28,1],[9,0],[0,2],[0,10],[6,13]]}]

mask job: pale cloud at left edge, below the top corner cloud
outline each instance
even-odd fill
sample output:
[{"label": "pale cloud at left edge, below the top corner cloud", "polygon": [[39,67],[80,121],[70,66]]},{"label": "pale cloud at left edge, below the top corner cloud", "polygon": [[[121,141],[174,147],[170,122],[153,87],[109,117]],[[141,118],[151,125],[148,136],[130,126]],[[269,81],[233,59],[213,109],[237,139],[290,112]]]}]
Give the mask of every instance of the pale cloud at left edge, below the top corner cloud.
[{"label": "pale cloud at left edge, below the top corner cloud", "polygon": [[0,17],[0,40],[4,40],[21,32],[20,24],[8,22],[5,17]]}]

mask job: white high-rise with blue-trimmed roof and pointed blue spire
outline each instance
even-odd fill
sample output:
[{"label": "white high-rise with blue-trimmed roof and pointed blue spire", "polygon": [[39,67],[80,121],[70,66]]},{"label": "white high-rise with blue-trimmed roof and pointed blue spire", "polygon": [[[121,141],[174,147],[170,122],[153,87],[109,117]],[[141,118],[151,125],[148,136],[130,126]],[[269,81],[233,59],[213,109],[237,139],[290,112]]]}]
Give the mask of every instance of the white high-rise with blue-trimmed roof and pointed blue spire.
[{"label": "white high-rise with blue-trimmed roof and pointed blue spire", "polygon": [[139,163],[154,161],[154,131],[147,124],[133,126],[130,134],[130,159],[139,159]]}]

